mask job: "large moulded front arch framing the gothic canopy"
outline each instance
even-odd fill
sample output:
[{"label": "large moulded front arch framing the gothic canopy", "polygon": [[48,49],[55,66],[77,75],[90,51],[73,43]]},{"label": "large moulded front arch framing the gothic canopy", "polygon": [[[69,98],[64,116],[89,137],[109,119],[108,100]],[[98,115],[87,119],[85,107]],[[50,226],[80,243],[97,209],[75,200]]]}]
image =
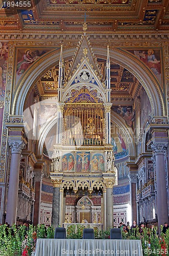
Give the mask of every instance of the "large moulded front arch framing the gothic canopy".
[{"label": "large moulded front arch framing the gothic canopy", "polygon": [[[70,57],[75,51],[76,49],[65,50],[63,56]],[[106,58],[106,49],[97,48],[94,52]],[[59,61],[59,56],[60,53],[53,50],[44,57],[41,57],[39,61],[35,62],[29,70],[25,72],[23,78],[20,80],[12,102],[12,115],[22,115],[23,106],[29,91],[33,88],[37,80],[47,70],[52,68],[56,64],[56,61]],[[124,54],[122,50],[110,50],[110,58],[137,77],[149,96],[154,116],[165,115],[163,97],[158,87],[158,81],[152,72],[135,56],[132,56],[130,53]]]}]

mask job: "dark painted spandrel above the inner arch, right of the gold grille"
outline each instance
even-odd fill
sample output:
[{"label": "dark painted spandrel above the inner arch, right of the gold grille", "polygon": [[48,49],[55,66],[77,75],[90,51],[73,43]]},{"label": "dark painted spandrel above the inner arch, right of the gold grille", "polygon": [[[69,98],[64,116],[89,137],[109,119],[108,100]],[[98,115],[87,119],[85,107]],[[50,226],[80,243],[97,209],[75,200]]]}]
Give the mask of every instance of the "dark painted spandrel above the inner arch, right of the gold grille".
[{"label": "dark painted spandrel above the inner arch, right of the gold grille", "polygon": [[133,127],[134,111],[133,106],[112,106],[112,110],[121,116],[128,126]]}]

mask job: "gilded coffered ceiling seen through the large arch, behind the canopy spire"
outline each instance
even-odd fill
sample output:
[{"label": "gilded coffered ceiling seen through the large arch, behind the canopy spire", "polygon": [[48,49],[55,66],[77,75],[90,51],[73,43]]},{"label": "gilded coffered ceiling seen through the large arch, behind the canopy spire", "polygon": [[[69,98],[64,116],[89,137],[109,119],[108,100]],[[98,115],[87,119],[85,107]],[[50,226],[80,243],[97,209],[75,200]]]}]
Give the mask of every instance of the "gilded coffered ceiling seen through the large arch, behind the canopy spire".
[{"label": "gilded coffered ceiling seen through the large arch, behind the canopy spire", "polygon": [[[97,58],[99,66],[105,72],[106,60]],[[69,65],[70,60],[66,60],[66,65]],[[118,98],[126,98],[131,101],[135,98],[136,89],[139,86],[137,78],[131,74],[128,70],[122,66],[117,65],[111,61],[111,96]],[[58,89],[58,76],[59,76],[59,66],[47,71],[38,81],[38,91],[41,97],[56,96]],[[103,77],[105,74],[103,74]],[[122,99],[121,99],[122,101]],[[123,103],[123,102],[121,102]],[[124,104],[126,102],[124,101]]]}]

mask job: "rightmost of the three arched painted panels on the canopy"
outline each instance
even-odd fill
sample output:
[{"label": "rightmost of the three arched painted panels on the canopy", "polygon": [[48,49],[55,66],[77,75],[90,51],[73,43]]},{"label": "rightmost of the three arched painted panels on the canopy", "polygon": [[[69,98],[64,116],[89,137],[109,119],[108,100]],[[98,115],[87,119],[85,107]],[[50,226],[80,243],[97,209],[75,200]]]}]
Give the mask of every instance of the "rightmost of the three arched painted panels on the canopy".
[{"label": "rightmost of the three arched painted panels on the canopy", "polygon": [[93,154],[91,157],[91,172],[102,173],[105,170],[104,156],[100,153]]}]

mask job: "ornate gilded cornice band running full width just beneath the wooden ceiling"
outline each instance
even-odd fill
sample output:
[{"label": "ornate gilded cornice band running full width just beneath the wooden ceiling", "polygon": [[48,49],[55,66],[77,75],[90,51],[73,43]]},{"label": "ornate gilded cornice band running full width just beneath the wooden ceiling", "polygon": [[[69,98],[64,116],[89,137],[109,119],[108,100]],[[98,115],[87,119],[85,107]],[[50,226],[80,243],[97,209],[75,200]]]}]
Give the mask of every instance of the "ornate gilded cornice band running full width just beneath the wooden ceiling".
[{"label": "ornate gilded cornice band running full width just beneath the wooden ceiling", "polygon": [[[98,41],[99,40],[107,40],[113,41],[113,45],[119,46],[119,41],[125,42],[125,45],[130,45],[129,41],[135,41],[137,39],[137,42],[135,44],[138,44],[138,41],[140,40],[144,46],[148,45],[150,41],[155,44],[156,41],[167,41],[169,40],[169,34],[166,33],[166,31],[158,31],[158,34],[154,34],[154,31],[150,31],[150,33],[136,33],[136,32],[130,32],[128,31],[123,31],[123,32],[111,32],[111,31],[105,31],[104,33],[94,33],[93,31],[88,31],[88,38],[89,40],[92,41]],[[30,40],[31,37],[31,40]],[[42,38],[46,38],[45,41]],[[90,38],[91,37],[91,38]],[[26,33],[20,33],[20,32],[15,32],[12,30],[9,31],[1,31],[0,34],[0,40],[12,40],[16,41],[18,44],[23,44],[26,41],[29,41],[29,47],[32,46],[37,46],[36,42],[38,40],[43,40],[41,41],[41,46],[52,46],[52,45],[60,45],[60,41],[69,41],[69,40],[79,40],[81,38],[81,33],[80,31],[71,33],[71,32],[64,32],[60,33],[60,31],[46,31],[46,32],[34,32],[32,31],[27,31],[27,38],[26,38]],[[23,40],[23,42],[21,41]],[[54,41],[54,42],[53,42]],[[152,46],[152,42],[150,43],[150,46]],[[133,42],[132,45],[133,46]],[[154,45],[153,45],[154,46]]]}]

